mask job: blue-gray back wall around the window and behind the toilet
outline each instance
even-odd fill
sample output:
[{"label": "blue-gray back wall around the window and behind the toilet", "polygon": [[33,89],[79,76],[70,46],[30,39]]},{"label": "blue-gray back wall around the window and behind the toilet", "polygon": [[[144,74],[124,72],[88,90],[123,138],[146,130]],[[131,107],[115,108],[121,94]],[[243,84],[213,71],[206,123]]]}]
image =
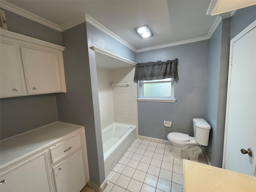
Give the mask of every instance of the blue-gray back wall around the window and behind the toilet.
[{"label": "blue-gray back wall around the window and behind the toilet", "polygon": [[164,120],[173,132],[193,136],[193,118],[205,118],[208,40],[137,53],[137,62],[178,58],[179,80],[174,83],[176,103],[138,102],[139,135],[167,139]]}]

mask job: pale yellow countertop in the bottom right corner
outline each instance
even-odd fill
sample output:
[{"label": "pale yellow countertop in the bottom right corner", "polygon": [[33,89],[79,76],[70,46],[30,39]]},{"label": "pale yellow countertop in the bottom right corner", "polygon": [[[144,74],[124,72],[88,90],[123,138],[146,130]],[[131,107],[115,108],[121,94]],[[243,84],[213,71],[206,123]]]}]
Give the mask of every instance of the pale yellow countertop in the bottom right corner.
[{"label": "pale yellow countertop in the bottom right corner", "polygon": [[183,160],[184,192],[256,192],[254,176]]}]

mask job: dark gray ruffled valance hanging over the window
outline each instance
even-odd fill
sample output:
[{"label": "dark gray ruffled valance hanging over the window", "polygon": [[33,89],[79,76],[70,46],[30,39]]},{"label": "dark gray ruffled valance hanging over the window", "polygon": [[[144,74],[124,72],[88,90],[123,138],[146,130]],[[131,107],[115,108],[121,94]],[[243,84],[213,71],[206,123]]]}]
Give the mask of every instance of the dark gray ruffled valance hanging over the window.
[{"label": "dark gray ruffled valance hanging over the window", "polygon": [[178,79],[178,59],[166,62],[138,63],[135,66],[134,81],[174,78]]}]

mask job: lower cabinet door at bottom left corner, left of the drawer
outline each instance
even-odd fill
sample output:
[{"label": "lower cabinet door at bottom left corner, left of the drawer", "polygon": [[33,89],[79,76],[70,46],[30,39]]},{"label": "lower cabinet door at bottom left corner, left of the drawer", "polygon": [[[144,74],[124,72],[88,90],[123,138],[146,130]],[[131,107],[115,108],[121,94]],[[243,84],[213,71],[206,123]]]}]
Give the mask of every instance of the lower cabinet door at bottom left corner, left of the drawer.
[{"label": "lower cabinet door at bottom left corner, left of the drawer", "polygon": [[1,192],[50,192],[46,152],[8,170],[1,176]]}]

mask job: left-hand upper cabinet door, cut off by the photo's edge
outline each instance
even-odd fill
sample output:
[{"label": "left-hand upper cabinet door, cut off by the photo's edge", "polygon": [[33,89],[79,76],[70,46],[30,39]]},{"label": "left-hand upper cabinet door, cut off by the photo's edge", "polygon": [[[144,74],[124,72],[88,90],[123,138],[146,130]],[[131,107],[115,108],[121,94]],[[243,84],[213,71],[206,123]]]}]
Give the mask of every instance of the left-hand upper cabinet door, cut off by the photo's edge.
[{"label": "left-hand upper cabinet door, cut off by the photo's edge", "polygon": [[1,43],[0,55],[0,96],[23,95],[16,46]]}]

